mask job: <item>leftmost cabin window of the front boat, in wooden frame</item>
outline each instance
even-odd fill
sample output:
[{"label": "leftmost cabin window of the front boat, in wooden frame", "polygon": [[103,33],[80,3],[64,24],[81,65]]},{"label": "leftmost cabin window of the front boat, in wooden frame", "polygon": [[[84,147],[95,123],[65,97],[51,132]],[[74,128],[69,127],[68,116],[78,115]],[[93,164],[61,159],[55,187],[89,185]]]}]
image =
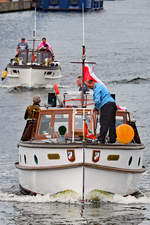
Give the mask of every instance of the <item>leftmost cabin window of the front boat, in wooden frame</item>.
[{"label": "leftmost cabin window of the front boat, in wooden frame", "polygon": [[41,115],[39,134],[49,134],[51,115]]}]

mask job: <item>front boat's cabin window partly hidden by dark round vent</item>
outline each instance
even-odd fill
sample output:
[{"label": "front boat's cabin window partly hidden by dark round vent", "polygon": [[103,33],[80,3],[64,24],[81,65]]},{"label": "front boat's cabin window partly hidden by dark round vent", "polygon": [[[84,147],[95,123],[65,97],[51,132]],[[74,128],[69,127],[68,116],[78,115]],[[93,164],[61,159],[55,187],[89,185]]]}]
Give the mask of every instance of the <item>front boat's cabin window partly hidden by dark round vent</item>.
[{"label": "front boat's cabin window partly hidden by dark round vent", "polygon": [[55,121],[54,121],[54,134],[59,135],[58,129],[60,126],[65,126],[68,133],[68,114],[55,114]]}]

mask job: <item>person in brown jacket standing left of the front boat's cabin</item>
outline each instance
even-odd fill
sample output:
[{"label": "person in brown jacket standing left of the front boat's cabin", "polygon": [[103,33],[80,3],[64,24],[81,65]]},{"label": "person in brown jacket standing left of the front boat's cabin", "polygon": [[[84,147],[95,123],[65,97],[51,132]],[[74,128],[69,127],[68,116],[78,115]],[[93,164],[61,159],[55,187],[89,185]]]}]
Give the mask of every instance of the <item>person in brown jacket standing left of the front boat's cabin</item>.
[{"label": "person in brown jacket standing left of the front boat's cabin", "polygon": [[40,110],[40,96],[33,97],[33,105],[29,105],[25,111],[24,119],[25,120],[34,120],[37,119],[38,112]]}]

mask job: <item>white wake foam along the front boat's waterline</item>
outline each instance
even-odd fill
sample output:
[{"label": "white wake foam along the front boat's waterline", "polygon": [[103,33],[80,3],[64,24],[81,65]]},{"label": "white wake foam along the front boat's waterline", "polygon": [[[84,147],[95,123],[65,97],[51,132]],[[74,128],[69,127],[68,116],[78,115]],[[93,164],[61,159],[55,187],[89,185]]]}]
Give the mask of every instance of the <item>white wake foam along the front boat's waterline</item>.
[{"label": "white wake foam along the front boat's waterline", "polygon": [[[81,204],[83,203],[79,195],[72,190],[65,190],[54,195],[46,194],[36,196],[23,195],[19,190],[0,189],[1,202],[27,202],[27,203],[65,203],[65,204]],[[111,194],[101,190],[93,190],[87,196],[85,204],[93,204],[95,202],[111,203],[111,204],[150,204],[150,191],[142,193],[142,195],[123,197],[118,194]]]}]

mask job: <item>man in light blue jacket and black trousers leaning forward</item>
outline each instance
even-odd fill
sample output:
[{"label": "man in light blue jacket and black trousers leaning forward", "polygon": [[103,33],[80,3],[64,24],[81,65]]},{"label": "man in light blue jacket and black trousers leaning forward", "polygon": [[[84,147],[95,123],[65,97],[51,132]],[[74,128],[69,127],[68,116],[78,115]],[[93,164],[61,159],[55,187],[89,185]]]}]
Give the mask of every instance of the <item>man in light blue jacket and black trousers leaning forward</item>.
[{"label": "man in light blue jacket and black trousers leaning forward", "polygon": [[105,144],[105,138],[109,131],[109,143],[116,142],[116,103],[107,88],[94,80],[86,82],[88,88],[93,89],[95,109],[100,111],[100,135],[98,140]]}]

